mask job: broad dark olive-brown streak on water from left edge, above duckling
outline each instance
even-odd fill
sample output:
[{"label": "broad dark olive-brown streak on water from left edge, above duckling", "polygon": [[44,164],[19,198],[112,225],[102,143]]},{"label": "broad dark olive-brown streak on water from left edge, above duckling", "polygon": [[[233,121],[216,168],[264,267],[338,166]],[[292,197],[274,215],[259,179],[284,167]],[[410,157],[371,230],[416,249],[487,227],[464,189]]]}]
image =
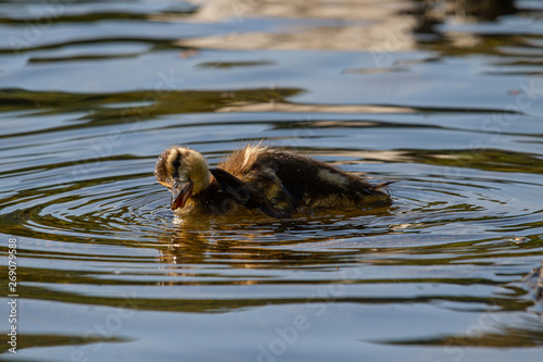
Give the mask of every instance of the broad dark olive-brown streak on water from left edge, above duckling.
[{"label": "broad dark olive-brown streak on water from left edge, above duckling", "polygon": [[[88,113],[75,123],[58,130],[81,129],[86,126],[127,124],[155,118],[161,114],[214,112],[233,104],[285,103],[300,95],[300,88],[224,89],[217,91],[149,89],[119,93],[66,93],[59,91],[0,90],[0,112],[40,110],[38,114],[84,111]],[[122,105],[119,105],[122,104]],[[80,121],[78,120],[78,121]],[[12,137],[13,135],[10,135]]]}]

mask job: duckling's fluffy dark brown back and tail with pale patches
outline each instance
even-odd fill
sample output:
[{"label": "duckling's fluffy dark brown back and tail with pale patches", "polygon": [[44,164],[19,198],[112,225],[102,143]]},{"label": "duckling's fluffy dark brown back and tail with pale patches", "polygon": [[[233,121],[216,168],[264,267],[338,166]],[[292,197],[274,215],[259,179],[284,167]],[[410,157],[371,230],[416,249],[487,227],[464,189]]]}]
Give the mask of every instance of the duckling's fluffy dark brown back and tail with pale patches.
[{"label": "duckling's fluffy dark brown back and tail with pale patches", "polygon": [[324,162],[268,147],[239,150],[222,167],[260,189],[281,210],[389,199],[379,190],[386,184],[374,186]]}]

